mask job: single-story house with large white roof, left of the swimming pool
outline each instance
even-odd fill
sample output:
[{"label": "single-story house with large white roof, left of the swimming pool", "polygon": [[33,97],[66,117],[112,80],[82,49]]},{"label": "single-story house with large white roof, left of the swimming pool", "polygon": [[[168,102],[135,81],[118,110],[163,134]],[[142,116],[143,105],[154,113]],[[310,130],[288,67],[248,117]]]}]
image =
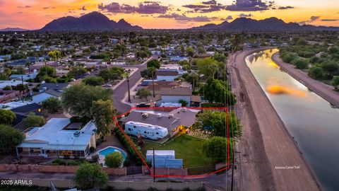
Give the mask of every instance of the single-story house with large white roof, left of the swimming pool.
[{"label": "single-story house with large white roof, left of the swimming pool", "polygon": [[45,158],[85,158],[90,154],[90,147],[96,147],[95,123],[73,126],[69,118],[52,118],[42,127],[25,132],[25,139],[16,146],[16,153]]}]

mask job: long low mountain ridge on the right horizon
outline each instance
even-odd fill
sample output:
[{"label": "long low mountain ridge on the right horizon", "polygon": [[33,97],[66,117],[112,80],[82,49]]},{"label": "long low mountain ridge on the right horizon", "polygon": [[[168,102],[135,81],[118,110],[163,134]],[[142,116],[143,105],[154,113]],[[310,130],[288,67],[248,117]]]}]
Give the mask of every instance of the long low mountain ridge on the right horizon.
[{"label": "long low mountain ridge on the right horizon", "polygon": [[224,21],[220,24],[207,24],[190,28],[191,30],[227,30],[227,31],[304,31],[304,30],[339,30],[339,27],[325,27],[314,25],[299,25],[298,23],[285,23],[275,17],[263,20],[251,18],[236,18],[232,22]]}]

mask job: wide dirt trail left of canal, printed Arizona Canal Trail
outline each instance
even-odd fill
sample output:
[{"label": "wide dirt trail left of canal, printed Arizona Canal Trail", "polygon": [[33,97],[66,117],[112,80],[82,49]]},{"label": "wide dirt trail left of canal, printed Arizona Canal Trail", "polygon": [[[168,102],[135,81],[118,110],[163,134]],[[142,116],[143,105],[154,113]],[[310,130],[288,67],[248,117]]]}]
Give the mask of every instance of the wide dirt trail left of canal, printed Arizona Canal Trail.
[{"label": "wide dirt trail left of canal, printed Arizona Canal Trail", "polygon": [[237,116],[243,126],[238,144],[237,190],[321,190],[270,100],[246,66],[244,58],[252,52],[230,56],[232,89],[238,98]]}]

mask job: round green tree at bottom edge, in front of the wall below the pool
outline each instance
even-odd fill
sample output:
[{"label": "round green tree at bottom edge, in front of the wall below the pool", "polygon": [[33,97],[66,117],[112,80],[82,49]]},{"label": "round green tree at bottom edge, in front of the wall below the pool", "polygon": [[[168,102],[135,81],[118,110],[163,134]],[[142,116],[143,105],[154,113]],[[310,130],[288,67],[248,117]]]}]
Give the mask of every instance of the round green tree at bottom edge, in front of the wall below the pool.
[{"label": "round green tree at bottom edge, in front of the wall below the pool", "polygon": [[83,163],[73,178],[76,185],[83,189],[99,188],[108,181],[108,175],[97,163]]}]

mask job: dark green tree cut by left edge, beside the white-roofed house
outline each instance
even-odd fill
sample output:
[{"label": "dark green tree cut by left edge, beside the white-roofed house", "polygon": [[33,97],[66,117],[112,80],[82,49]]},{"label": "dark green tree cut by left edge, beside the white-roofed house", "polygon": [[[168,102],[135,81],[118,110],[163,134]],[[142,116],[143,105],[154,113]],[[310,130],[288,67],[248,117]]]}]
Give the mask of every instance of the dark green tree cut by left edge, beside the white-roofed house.
[{"label": "dark green tree cut by left edge, beside the white-roofed house", "polygon": [[8,125],[0,125],[0,154],[15,152],[16,146],[25,139],[22,132]]}]

